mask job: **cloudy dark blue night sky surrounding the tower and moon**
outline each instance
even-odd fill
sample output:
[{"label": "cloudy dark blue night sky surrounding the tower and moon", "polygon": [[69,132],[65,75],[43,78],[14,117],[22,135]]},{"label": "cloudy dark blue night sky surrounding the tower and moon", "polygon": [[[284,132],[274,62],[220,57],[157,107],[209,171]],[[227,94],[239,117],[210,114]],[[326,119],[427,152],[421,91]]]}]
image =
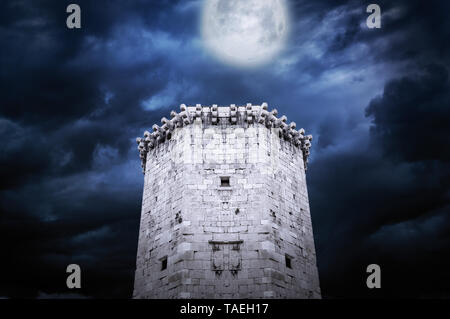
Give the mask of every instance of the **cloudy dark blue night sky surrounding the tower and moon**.
[{"label": "cloudy dark blue night sky surrounding the tower and moon", "polygon": [[287,3],[283,50],[242,68],[205,50],[202,1],[0,2],[0,298],[130,298],[135,138],[181,103],[247,102],[314,136],[324,298],[450,297],[450,2],[377,1],[381,29],[371,2]]}]

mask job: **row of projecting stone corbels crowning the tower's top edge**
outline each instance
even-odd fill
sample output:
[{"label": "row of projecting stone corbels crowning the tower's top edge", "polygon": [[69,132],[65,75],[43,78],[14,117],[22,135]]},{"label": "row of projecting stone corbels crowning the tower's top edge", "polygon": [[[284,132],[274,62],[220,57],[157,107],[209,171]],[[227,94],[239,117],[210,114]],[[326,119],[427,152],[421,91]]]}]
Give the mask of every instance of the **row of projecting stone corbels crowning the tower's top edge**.
[{"label": "row of projecting stone corbels crowning the tower's top edge", "polygon": [[290,141],[296,147],[300,147],[303,152],[303,160],[305,164],[308,162],[309,149],[311,147],[312,135],[305,135],[303,128],[296,130],[295,122],[287,124],[287,117],[277,117],[278,111],[273,109],[268,111],[267,103],[261,105],[252,105],[247,103],[245,106],[195,106],[180,105],[180,113],[170,112],[171,119],[163,117],[161,126],[154,124],[153,132],[145,131],[144,137],[136,138],[138,150],[141,159],[141,166],[145,174],[145,163],[147,153],[160,143],[170,140],[172,132],[179,127],[190,125],[195,121],[204,125],[236,125],[239,127],[248,127],[249,125],[264,125],[268,129],[277,129],[280,138]]}]

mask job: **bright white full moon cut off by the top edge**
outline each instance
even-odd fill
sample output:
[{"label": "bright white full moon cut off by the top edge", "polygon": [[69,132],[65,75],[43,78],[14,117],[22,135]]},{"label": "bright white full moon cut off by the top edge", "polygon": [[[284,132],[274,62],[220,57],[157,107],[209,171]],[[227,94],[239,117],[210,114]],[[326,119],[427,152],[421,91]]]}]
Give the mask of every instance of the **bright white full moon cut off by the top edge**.
[{"label": "bright white full moon cut off by the top edge", "polygon": [[287,20],[284,0],[205,0],[202,37],[223,62],[258,66],[282,49]]}]

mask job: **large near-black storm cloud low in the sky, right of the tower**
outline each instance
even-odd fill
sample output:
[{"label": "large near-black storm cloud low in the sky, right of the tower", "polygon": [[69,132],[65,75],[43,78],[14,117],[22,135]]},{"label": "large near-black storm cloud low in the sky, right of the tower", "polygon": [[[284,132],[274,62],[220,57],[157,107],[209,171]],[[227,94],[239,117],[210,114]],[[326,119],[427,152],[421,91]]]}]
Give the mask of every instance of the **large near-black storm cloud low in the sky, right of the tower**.
[{"label": "large near-black storm cloud low in the sky, right of the tower", "polygon": [[330,296],[378,295],[362,280],[364,268],[378,263],[385,296],[448,297],[449,110],[447,69],[418,69],[388,82],[368,105],[370,139],[311,164]]}]

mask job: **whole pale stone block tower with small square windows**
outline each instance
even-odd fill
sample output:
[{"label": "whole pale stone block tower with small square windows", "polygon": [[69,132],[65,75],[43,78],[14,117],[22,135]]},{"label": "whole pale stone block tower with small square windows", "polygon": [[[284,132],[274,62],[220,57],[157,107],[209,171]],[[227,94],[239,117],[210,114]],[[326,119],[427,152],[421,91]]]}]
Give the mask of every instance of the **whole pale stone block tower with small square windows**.
[{"label": "whole pale stone block tower with small square windows", "polygon": [[185,106],[138,138],[134,298],[320,298],[311,136],[267,104]]}]

